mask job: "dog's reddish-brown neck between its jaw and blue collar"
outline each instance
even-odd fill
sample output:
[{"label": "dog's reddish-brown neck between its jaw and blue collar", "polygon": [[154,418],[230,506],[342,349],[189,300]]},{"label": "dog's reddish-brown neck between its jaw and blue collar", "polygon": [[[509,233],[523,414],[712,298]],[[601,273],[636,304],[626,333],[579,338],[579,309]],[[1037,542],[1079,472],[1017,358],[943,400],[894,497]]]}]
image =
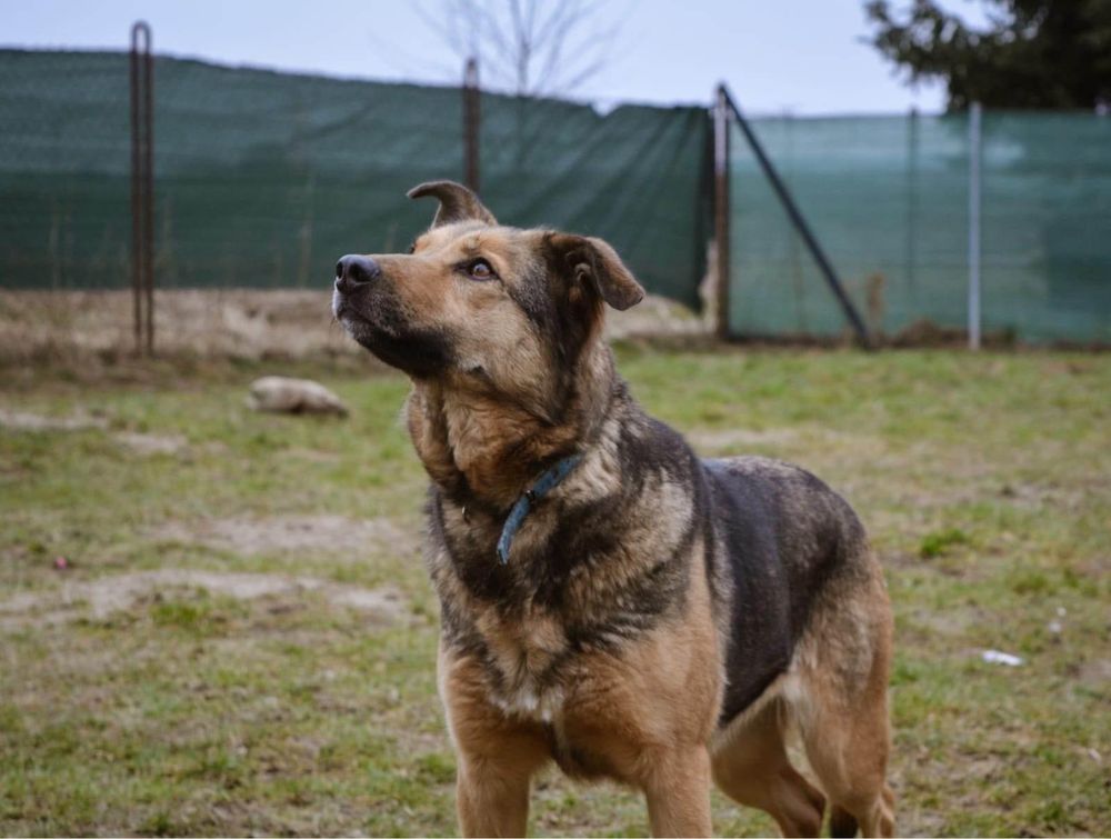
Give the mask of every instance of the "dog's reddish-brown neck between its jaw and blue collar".
[{"label": "dog's reddish-brown neck between its jaw and blue collar", "polygon": [[589,446],[614,381],[612,353],[601,342],[580,358],[554,418],[466,382],[418,381],[407,407],[409,433],[448,498],[502,511],[553,461]]}]

